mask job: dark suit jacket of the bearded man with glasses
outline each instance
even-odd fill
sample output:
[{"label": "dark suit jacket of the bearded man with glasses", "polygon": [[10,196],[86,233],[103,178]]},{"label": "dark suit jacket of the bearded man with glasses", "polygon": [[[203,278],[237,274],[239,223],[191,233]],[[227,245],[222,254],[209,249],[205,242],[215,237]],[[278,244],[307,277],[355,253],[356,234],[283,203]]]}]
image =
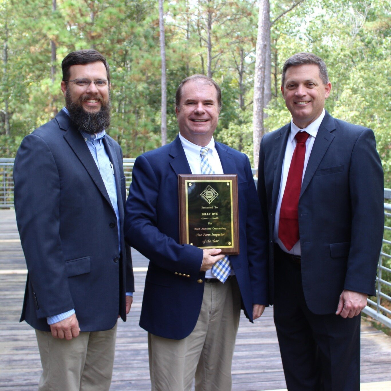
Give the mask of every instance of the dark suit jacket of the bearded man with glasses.
[{"label": "dark suit jacket of the bearded man with glasses", "polygon": [[[125,177],[120,146],[105,148],[114,165],[121,230]],[[108,330],[126,320],[133,292],[129,246],[91,152],[61,110],[26,136],[15,159],[16,221],[28,275],[22,320],[49,331],[46,317],[75,308],[81,331]]]}]

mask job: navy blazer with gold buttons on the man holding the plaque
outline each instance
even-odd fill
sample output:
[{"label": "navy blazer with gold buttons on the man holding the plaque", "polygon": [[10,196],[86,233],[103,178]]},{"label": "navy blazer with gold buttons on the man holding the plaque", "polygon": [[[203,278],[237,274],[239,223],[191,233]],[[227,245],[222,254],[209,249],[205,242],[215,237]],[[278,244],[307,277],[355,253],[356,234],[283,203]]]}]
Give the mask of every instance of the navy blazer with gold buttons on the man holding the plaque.
[{"label": "navy blazer with gold buttons on the man holding the plaque", "polygon": [[[248,157],[224,144],[215,145],[224,173],[238,174],[240,254],[231,255],[230,261],[252,321],[252,304],[267,304],[267,238]],[[191,174],[179,136],[139,156],[125,217],[126,240],[150,260],[140,326],[171,339],[185,338],[194,329],[205,277],[200,272],[202,249],[178,244],[178,174]]]}]

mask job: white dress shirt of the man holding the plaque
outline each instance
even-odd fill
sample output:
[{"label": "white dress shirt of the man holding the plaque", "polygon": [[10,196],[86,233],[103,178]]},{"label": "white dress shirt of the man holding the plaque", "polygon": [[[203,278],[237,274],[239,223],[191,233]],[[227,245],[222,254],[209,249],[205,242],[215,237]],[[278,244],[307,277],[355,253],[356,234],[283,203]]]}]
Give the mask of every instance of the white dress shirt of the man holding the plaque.
[{"label": "white dress shirt of the man holding the plaque", "polygon": [[[181,144],[183,147],[183,150],[185,151],[185,155],[187,158],[187,162],[189,163],[190,170],[193,175],[201,175],[201,147],[199,145],[193,144],[189,140],[187,140],[185,137],[183,137],[179,133],[179,140],[181,140]],[[221,161],[219,158],[219,154],[217,153],[215,149],[215,140],[213,137],[211,138],[210,142],[207,145],[204,145],[204,147],[208,147],[208,161],[210,167],[212,167],[212,170],[215,174],[224,174],[224,171],[222,170]],[[231,267],[231,273],[230,275],[235,274]],[[205,278],[215,278],[212,274],[212,269],[209,269],[205,273]]]}]

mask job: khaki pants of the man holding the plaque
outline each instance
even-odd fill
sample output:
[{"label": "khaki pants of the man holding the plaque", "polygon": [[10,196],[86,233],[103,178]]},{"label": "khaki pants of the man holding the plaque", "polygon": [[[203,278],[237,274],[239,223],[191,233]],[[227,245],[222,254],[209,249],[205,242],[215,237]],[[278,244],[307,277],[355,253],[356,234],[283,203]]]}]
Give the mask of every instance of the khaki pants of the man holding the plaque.
[{"label": "khaki pants of the man holding the plaque", "polygon": [[229,391],[231,364],[240,318],[236,277],[224,284],[205,282],[194,330],[184,339],[148,333],[152,391]]}]

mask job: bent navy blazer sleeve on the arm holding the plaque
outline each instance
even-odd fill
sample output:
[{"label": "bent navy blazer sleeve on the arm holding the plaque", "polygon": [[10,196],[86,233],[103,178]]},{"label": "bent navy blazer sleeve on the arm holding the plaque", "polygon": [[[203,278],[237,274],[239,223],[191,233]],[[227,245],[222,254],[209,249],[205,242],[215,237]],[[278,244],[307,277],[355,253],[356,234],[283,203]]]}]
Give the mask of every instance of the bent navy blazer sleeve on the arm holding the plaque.
[{"label": "bent navy blazer sleeve on the arm holding the plaque", "polygon": [[[126,201],[125,239],[152,263],[175,273],[180,270],[196,279],[201,269],[203,250],[178,244],[157,228],[159,182],[145,156],[139,156],[132,171],[132,183]],[[178,208],[167,200],[167,208]],[[177,224],[178,222],[167,222]]]}]

